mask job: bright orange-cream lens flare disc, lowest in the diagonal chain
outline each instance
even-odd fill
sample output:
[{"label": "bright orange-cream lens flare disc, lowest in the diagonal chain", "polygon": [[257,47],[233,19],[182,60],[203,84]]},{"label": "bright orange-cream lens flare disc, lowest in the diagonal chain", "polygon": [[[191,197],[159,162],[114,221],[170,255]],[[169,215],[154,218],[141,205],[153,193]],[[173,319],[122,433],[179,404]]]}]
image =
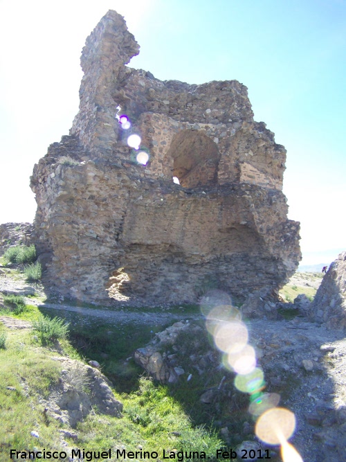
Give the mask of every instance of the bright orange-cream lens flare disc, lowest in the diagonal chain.
[{"label": "bright orange-cream lens flare disc, lowest in the diagonal chain", "polygon": [[295,415],[283,407],[268,409],[257,420],[255,434],[269,445],[283,444],[295,429]]}]

